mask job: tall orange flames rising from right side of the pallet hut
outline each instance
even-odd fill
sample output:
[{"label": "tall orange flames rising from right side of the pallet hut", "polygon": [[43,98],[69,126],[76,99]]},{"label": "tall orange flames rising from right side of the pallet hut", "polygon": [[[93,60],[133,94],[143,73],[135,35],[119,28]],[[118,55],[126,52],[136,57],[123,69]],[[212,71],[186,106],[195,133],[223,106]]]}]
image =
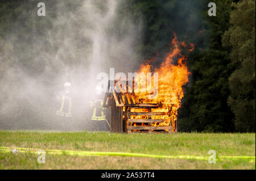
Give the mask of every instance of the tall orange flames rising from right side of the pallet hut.
[{"label": "tall orange flames rising from right side of the pallet hut", "polygon": [[[175,33],[171,44],[173,48],[166,54],[159,68],[154,68],[151,65],[151,62],[156,60],[154,59],[147,61],[146,64],[142,64],[138,71],[138,74],[147,74],[151,70],[158,73],[158,95],[154,99],[149,99],[147,95],[149,92],[152,92],[154,85],[146,85],[147,82],[141,81],[139,76],[135,77],[135,82],[139,85],[137,88],[139,90],[135,90],[135,95],[140,103],[162,103],[162,107],[152,108],[151,112],[167,112],[167,115],[155,115],[151,116],[151,119],[165,119],[165,121],[163,123],[152,123],[152,125],[169,126],[172,124],[172,131],[175,131],[177,110],[180,108],[181,99],[184,96],[182,86],[188,82],[188,75],[191,74],[186,65],[187,56],[181,54],[181,48],[185,48],[188,52],[191,52],[194,49],[194,45],[192,43],[186,45],[184,41],[180,43],[177,41]],[[175,60],[177,61],[176,64]],[[140,91],[143,88],[146,88],[146,92]],[[141,112],[141,110],[139,111]],[[143,112],[146,112],[146,110]],[[133,119],[142,119],[142,117],[133,116]],[[143,117],[143,119],[148,119],[148,117]]]}]

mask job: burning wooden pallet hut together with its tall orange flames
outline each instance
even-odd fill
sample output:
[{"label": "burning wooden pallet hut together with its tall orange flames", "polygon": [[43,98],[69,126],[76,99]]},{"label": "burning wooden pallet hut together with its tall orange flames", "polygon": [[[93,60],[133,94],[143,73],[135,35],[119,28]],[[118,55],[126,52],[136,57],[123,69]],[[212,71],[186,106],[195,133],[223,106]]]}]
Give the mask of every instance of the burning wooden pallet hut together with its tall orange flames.
[{"label": "burning wooden pallet hut together with its tall orange flames", "polygon": [[[119,81],[109,81],[110,93],[106,93],[104,104],[109,107],[122,107],[122,113],[118,111],[122,120],[118,120],[112,108],[110,131],[177,131],[177,110],[183,98],[182,86],[188,82],[190,74],[186,66],[187,56],[181,54],[181,49],[191,52],[194,46],[177,41],[175,34],[172,46],[159,68],[155,68],[148,61],[141,65],[137,74],[133,74],[134,79],[128,75],[128,81],[124,76],[120,76],[122,78]],[[122,124],[118,125],[115,121],[121,121]]]}]

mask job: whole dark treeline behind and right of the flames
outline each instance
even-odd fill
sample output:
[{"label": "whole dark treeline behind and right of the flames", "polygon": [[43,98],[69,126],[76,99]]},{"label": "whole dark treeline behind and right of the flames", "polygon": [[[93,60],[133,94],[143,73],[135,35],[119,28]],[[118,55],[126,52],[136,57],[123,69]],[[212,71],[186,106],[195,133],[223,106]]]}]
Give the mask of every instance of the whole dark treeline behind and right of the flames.
[{"label": "whole dark treeline behind and right of the flames", "polygon": [[[195,44],[177,128],[184,132],[255,132],[255,1],[134,0],[143,14],[144,56],[166,52],[172,32]],[[139,11],[138,11],[139,10]]]}]

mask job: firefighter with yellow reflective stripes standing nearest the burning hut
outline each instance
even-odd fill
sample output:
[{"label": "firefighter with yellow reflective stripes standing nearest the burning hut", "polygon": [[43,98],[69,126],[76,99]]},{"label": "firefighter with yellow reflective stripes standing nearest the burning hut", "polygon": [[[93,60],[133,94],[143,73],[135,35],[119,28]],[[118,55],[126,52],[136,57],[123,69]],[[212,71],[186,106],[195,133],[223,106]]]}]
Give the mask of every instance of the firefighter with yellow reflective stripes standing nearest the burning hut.
[{"label": "firefighter with yellow reflective stripes standing nearest the burning hut", "polygon": [[96,87],[96,99],[93,102],[90,102],[90,107],[93,109],[93,115],[91,120],[94,121],[94,125],[99,131],[108,131],[109,123],[104,114],[106,108],[103,106],[103,96],[104,91],[101,87]]}]

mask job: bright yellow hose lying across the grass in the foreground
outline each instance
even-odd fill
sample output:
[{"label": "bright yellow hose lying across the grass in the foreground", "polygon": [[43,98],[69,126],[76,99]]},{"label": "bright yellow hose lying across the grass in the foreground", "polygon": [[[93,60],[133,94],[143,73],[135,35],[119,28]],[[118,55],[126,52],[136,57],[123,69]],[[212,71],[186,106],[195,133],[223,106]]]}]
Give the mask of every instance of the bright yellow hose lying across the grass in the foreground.
[{"label": "bright yellow hose lying across the grass in the foreground", "polygon": [[[2,146],[0,152],[10,153],[11,150],[18,150],[18,153],[35,153],[38,151],[29,148],[9,148]],[[125,153],[125,152],[108,152],[108,151],[79,151],[79,150],[44,150],[47,154],[65,154],[65,155],[79,155],[79,156],[124,156],[124,157],[151,157],[151,158],[173,158],[173,159],[197,159],[197,160],[208,160],[205,156],[195,155],[154,155],[154,154],[143,154],[143,153]],[[255,163],[255,156],[218,156],[216,159],[249,159],[250,162]]]}]

